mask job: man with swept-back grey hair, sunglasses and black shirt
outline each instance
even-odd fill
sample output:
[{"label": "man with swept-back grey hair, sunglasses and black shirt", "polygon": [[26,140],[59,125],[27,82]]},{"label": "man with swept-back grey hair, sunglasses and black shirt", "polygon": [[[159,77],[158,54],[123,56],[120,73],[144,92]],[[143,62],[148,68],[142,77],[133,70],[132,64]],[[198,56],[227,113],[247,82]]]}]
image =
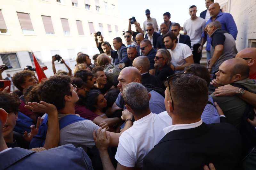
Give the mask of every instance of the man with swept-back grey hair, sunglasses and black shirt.
[{"label": "man with swept-back grey hair, sunglasses and black shirt", "polygon": [[170,67],[171,60],[171,54],[167,49],[159,49],[156,51],[154,59],[154,66],[156,68],[155,75],[159,78],[162,84],[164,84],[164,81],[166,81],[168,76],[174,74],[174,71]]}]

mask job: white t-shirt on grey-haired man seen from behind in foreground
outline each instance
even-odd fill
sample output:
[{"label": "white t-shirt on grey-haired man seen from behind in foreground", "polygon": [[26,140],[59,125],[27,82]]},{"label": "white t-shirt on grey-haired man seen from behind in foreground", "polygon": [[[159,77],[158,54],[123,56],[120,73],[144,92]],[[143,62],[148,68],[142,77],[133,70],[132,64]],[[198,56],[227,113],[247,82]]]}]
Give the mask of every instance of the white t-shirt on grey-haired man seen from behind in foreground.
[{"label": "white t-shirt on grey-haired man seen from behind in foreground", "polygon": [[164,128],[172,125],[167,112],[149,115],[133,122],[119,137],[116,160],[126,167],[142,167],[148,152],[164,137]]}]

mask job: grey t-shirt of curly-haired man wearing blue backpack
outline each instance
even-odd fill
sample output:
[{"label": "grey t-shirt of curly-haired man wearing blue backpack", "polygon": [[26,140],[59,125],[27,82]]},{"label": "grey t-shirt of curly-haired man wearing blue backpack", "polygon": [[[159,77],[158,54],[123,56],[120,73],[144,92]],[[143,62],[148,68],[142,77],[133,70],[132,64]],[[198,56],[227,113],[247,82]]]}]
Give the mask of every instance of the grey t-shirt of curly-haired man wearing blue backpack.
[{"label": "grey t-shirt of curly-haired man wearing blue backpack", "polygon": [[98,129],[99,126],[90,120],[72,123],[60,130],[59,145],[73,144],[86,151],[87,147],[92,148],[95,145],[92,133]]}]

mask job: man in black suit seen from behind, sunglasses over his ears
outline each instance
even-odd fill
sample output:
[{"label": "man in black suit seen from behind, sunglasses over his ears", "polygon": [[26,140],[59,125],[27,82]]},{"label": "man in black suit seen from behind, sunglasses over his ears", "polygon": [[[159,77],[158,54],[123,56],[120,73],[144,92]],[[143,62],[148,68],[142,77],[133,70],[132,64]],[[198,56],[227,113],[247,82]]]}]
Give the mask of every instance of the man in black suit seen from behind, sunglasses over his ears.
[{"label": "man in black suit seen from behind, sunglasses over his ears", "polygon": [[[166,134],[148,153],[143,169],[238,169],[241,156],[239,131],[228,123],[205,124],[201,114],[208,100],[205,80],[192,74],[167,78],[165,107],[172,117]],[[169,90],[170,89],[170,90]]]}]

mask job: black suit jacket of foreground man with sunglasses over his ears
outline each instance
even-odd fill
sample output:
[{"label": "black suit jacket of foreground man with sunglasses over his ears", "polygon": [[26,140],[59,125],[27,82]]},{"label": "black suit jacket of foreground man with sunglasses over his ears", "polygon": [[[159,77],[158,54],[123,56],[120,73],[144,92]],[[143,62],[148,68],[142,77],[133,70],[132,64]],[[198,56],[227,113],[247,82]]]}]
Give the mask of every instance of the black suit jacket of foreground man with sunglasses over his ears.
[{"label": "black suit jacket of foreground man with sunglasses over his ears", "polygon": [[240,169],[241,136],[229,123],[203,123],[167,133],[143,160],[143,169]]}]

